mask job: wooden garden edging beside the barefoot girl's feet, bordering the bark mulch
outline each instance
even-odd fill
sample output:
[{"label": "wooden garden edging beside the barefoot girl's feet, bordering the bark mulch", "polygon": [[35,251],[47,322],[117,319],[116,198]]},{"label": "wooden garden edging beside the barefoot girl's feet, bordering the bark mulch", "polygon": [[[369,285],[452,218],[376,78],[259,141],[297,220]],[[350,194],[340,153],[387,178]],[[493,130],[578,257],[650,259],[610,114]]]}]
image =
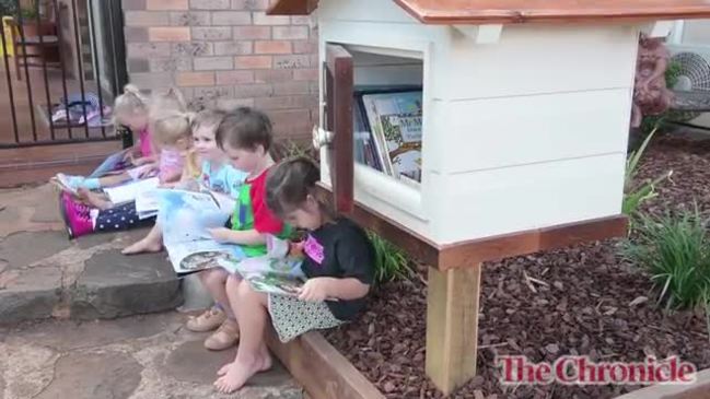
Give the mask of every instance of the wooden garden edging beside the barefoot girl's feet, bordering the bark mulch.
[{"label": "wooden garden edging beside the barefoot girl's feet, bordering the bark mulch", "polygon": [[267,344],[311,399],[385,399],[374,384],[317,331],[282,343],[269,328]]}]

